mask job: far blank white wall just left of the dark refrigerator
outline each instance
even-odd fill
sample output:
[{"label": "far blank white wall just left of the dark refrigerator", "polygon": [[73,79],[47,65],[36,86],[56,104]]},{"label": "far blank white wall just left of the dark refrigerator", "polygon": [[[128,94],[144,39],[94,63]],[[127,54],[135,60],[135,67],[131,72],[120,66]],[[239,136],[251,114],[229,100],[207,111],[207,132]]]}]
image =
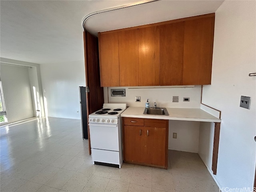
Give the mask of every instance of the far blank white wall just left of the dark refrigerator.
[{"label": "far blank white wall just left of the dark refrigerator", "polygon": [[40,67],[46,116],[80,119],[78,87],[85,86],[84,60]]}]

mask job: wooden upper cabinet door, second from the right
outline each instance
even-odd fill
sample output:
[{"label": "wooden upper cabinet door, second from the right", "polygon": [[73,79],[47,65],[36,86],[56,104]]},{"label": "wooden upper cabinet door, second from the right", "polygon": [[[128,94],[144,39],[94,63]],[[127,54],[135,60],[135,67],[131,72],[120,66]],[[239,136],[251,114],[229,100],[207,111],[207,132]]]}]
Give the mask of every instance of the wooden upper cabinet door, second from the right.
[{"label": "wooden upper cabinet door, second from the right", "polygon": [[182,85],[184,22],[160,25],[160,85]]}]

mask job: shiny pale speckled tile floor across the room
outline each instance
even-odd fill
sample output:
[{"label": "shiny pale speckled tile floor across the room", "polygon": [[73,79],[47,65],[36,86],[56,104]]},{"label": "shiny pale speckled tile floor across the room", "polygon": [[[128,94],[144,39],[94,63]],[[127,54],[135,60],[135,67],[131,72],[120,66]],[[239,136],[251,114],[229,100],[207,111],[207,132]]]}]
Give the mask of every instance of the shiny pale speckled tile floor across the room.
[{"label": "shiny pale speckled tile floor across the room", "polygon": [[93,165],[80,120],[0,128],[1,192],[218,192],[198,154],[169,150],[168,170]]}]

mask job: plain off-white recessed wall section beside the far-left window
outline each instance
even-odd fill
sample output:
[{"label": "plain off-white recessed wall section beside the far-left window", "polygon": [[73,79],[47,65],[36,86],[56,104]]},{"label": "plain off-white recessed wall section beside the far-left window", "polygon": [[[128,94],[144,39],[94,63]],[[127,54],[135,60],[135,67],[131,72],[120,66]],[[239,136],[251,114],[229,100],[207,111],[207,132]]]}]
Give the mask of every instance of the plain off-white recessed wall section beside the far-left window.
[{"label": "plain off-white recessed wall section beside the far-left window", "polygon": [[28,67],[0,64],[8,123],[34,117]]}]

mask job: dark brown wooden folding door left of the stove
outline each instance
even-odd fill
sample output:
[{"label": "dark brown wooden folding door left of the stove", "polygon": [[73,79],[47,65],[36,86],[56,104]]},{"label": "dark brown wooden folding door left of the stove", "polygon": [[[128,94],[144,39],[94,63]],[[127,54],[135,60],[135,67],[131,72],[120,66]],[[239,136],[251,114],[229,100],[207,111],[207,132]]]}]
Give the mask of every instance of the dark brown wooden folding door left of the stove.
[{"label": "dark brown wooden folding door left of the stove", "polygon": [[[89,114],[102,108],[104,103],[103,88],[100,87],[100,67],[98,59],[98,39],[87,31],[84,31],[84,60],[86,87],[90,92],[86,92],[87,102],[87,122]],[[88,126],[89,154],[90,147],[90,127]]]}]

